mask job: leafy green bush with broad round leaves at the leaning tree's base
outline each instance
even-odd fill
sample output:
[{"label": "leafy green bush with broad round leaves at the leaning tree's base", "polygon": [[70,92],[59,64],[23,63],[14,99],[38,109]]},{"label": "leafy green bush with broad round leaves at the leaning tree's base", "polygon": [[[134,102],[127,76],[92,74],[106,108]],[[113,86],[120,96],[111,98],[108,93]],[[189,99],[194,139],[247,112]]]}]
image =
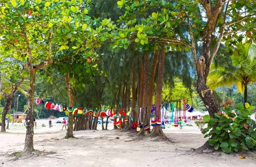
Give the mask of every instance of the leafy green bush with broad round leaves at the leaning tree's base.
[{"label": "leafy green bush with broad round leaves at the leaning tree's base", "polygon": [[[229,99],[230,100],[230,99]],[[256,126],[255,121],[250,119],[250,110],[253,106],[248,103],[239,103],[233,108],[232,101],[224,104],[224,113],[215,113],[215,118],[204,116],[207,128],[202,130],[204,137],[209,137],[209,145],[215,150],[225,153],[238,152],[241,150],[256,150]],[[232,111],[235,110],[235,113]],[[235,119],[234,119],[235,118]]]}]

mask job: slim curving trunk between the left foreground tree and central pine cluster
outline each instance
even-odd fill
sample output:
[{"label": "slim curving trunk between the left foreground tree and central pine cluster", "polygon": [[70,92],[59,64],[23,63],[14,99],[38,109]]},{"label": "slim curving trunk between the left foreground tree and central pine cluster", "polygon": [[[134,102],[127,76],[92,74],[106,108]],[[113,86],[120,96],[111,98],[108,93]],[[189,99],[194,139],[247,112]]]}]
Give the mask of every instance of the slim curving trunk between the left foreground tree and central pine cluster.
[{"label": "slim curving trunk between the left foreground tree and central pine cluster", "polygon": [[[73,92],[72,85],[70,84],[70,74],[65,74],[65,83],[67,86],[67,94],[69,98],[69,107],[75,106],[75,94]],[[68,113],[68,127],[65,139],[74,138],[73,135],[73,114]]]}]

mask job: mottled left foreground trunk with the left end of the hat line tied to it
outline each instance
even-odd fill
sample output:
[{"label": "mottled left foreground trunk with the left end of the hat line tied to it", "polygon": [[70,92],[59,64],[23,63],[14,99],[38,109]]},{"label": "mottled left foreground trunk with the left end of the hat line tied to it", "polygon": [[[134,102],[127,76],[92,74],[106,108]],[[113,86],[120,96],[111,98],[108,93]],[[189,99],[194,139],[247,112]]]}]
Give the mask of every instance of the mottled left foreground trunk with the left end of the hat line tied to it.
[{"label": "mottled left foreground trunk with the left end of the hat line tied to it", "polygon": [[34,151],[34,94],[35,94],[35,73],[36,70],[30,69],[30,78],[29,78],[29,96],[28,96],[28,110],[27,110],[27,123],[26,123],[26,138],[25,145],[22,155],[30,155]]}]

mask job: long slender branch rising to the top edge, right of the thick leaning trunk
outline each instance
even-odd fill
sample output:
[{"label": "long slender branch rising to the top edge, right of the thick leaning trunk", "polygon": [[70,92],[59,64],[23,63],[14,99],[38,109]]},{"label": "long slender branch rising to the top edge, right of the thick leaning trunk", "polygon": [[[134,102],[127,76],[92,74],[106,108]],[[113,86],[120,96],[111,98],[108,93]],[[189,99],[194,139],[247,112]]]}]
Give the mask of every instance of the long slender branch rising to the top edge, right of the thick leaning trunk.
[{"label": "long slender branch rising to the top edge, right of the thick leaning trunk", "polygon": [[221,43],[221,39],[223,38],[224,28],[226,27],[225,22],[226,22],[227,7],[228,7],[228,4],[229,4],[229,1],[230,1],[230,0],[227,1],[227,6],[226,6],[226,9],[225,9],[225,13],[224,13],[224,21],[223,21],[223,25],[221,26],[221,31],[220,31],[218,40],[217,40],[217,42],[216,42],[216,44],[215,44],[215,47],[214,47],[214,49],[213,49],[213,51],[212,51],[212,54],[210,55],[210,58],[209,58],[209,62],[208,62],[208,66],[209,66],[209,67],[211,67],[212,60],[213,60],[215,54],[217,53],[218,48],[219,48],[220,43]]}]

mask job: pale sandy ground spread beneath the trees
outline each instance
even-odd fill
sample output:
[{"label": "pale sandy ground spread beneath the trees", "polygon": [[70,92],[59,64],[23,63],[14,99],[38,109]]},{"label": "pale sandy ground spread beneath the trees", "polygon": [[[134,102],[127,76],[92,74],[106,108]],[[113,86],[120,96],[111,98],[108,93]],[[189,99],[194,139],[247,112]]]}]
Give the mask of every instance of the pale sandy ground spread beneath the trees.
[{"label": "pale sandy ground spread beneath the trees", "polygon": [[[47,120],[42,120],[42,122]],[[63,139],[66,130],[61,124],[53,128],[39,126],[35,130],[34,147],[46,152],[43,156],[12,161],[10,156],[24,147],[26,129],[10,125],[7,133],[0,133],[0,167],[255,167],[256,153],[197,154],[191,148],[204,144],[197,127],[166,127],[164,132],[173,142],[155,138],[138,139],[120,130],[84,130],[74,132],[76,139]],[[47,125],[47,124],[46,124]],[[109,126],[112,129],[113,126]],[[98,126],[101,129],[101,125]],[[119,137],[119,139],[116,139]],[[47,154],[51,153],[51,154]]]}]

